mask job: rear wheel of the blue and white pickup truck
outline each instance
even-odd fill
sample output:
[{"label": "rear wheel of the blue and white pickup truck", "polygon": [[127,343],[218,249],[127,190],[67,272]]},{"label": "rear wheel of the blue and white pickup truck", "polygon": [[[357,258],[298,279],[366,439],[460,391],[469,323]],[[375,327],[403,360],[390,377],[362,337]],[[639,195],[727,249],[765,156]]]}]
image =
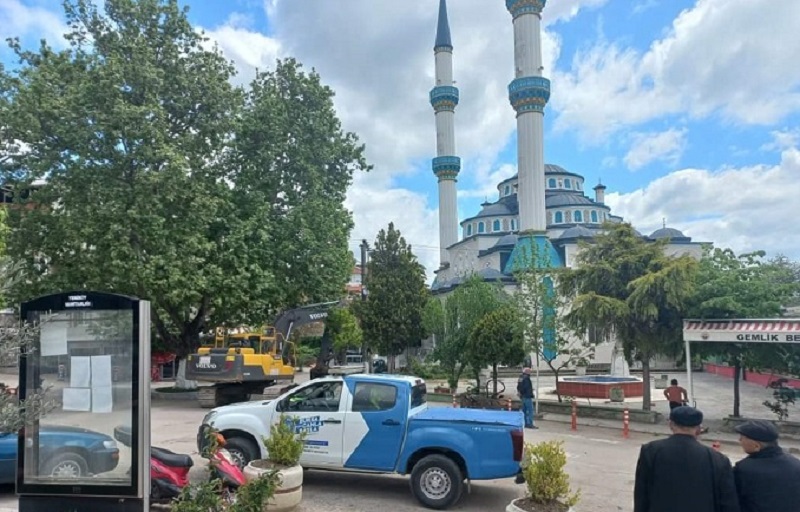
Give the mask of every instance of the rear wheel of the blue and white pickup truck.
[{"label": "rear wheel of the blue and white pickup truck", "polygon": [[427,508],[444,510],[456,504],[464,490],[464,475],[453,459],[428,455],[411,470],[411,490]]}]

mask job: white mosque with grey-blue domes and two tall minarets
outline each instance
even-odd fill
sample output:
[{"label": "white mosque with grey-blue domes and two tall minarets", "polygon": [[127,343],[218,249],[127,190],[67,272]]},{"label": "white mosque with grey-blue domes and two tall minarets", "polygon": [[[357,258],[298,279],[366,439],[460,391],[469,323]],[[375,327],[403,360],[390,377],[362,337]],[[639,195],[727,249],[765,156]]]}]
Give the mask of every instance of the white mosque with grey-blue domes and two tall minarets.
[{"label": "white mosque with grey-blue domes and two tall minarets", "polygon": [[[513,78],[508,96],[517,118],[518,173],[497,184],[497,200],[483,203],[477,214],[459,222],[456,185],[461,159],[455,137],[459,91],[453,80],[447,2],[439,2],[434,43],[436,83],[430,91],[436,119],[432,168],[439,188],[440,247],[440,264],[431,291],[439,296],[446,296],[475,273],[512,290],[516,288],[512,274],[519,268],[572,267],[581,240],[592,240],[605,222],[623,222],[605,204],[605,185],[592,187],[594,194],[589,197],[583,176],[545,164],[544,111],[550,98],[550,81],[542,76],[541,15],[546,0],[505,3],[514,24],[515,69],[509,70]],[[665,250],[670,255],[699,258],[704,245],[666,225],[641,236],[648,241],[668,239]],[[597,346],[594,361],[610,364],[615,375],[629,371],[621,347],[613,340]],[[674,360],[652,364],[654,369],[675,367]]]}]

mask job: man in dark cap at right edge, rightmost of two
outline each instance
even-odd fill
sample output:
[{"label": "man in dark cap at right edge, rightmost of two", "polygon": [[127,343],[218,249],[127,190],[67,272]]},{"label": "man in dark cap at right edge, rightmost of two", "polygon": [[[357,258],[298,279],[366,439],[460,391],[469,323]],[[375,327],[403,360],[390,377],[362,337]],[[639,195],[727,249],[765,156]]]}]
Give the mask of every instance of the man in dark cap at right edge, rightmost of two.
[{"label": "man in dark cap at right edge, rightmost of two", "polygon": [[742,512],[800,510],[800,460],[778,446],[778,429],[769,421],[738,425],[747,457],[733,469]]}]

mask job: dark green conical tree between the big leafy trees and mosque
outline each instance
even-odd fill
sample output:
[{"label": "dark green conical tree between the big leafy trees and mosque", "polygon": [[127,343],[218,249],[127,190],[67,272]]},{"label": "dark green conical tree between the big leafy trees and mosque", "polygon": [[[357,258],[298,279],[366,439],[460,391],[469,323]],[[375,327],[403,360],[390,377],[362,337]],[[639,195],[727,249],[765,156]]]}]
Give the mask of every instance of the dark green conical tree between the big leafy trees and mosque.
[{"label": "dark green conical tree between the big leafy trees and mosque", "polygon": [[374,352],[389,358],[418,347],[427,336],[422,314],[428,301],[425,268],[417,261],[394,223],[375,239],[367,265],[367,300],[358,305],[361,328]]}]

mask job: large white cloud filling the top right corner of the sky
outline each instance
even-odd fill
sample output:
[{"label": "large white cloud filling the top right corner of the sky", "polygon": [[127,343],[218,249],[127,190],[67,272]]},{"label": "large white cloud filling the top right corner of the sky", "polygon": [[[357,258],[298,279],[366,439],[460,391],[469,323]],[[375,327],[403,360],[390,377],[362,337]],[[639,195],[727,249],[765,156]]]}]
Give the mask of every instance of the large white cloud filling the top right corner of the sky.
[{"label": "large white cloud filling the top right corner of the sky", "polygon": [[554,77],[557,128],[599,140],[670,114],[772,124],[800,110],[795,0],[698,0],[643,54],[600,43]]}]

